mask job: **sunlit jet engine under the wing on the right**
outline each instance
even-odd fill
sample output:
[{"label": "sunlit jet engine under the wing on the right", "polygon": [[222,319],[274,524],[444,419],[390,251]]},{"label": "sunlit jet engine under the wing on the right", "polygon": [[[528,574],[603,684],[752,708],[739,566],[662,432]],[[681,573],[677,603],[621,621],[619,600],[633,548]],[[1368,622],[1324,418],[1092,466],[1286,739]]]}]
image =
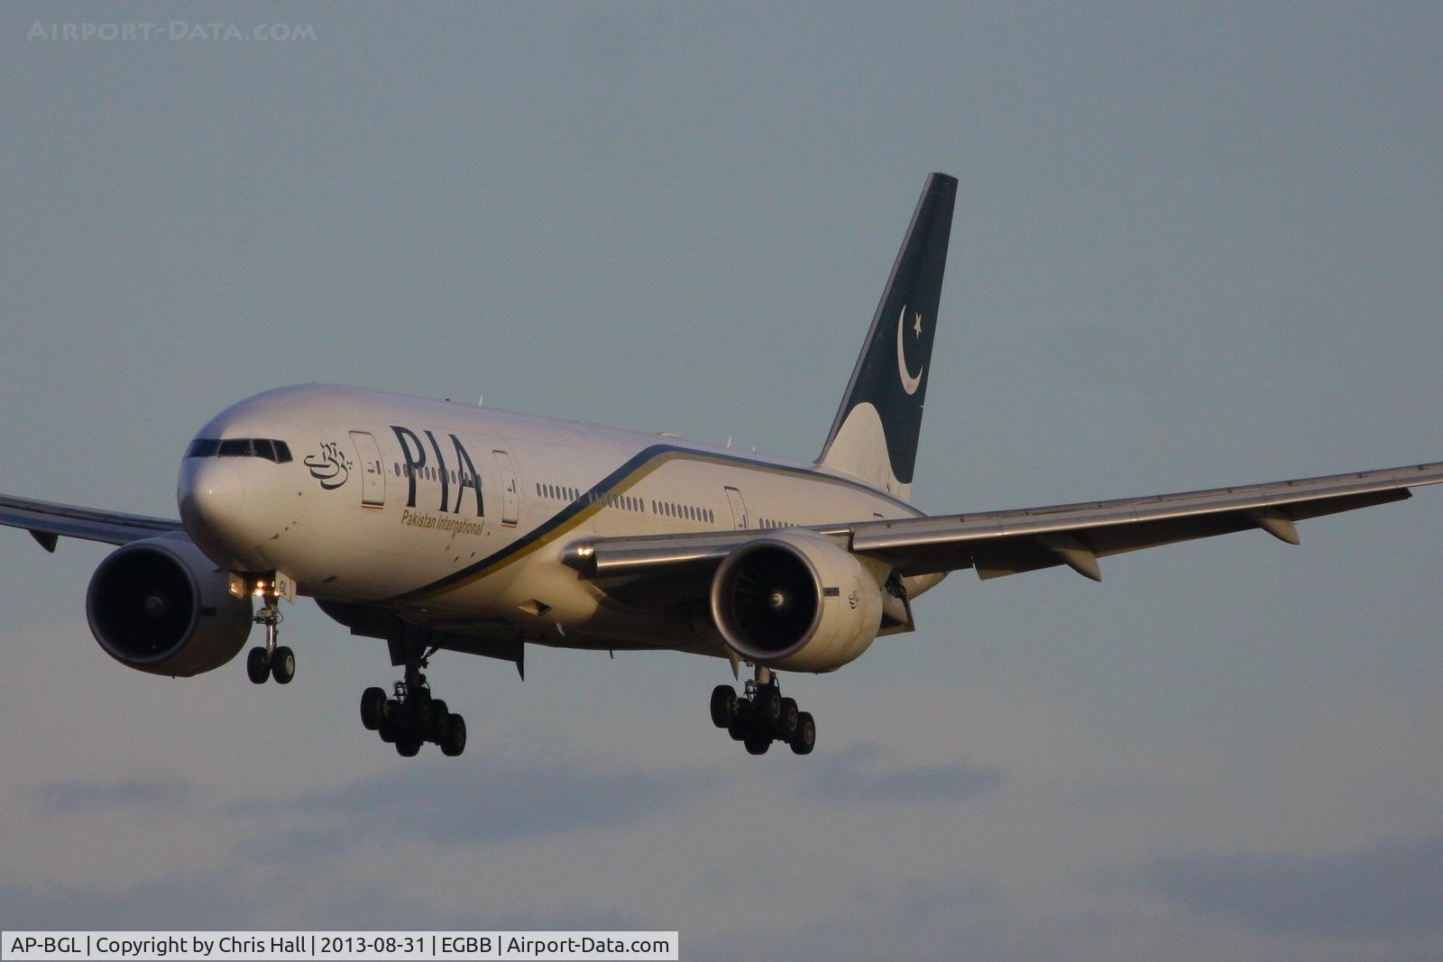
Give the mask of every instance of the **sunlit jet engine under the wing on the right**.
[{"label": "sunlit jet engine under the wing on the right", "polygon": [[747,541],[722,561],[711,580],[711,619],[749,662],[830,672],[877,636],[882,588],[830,538],[784,531]]}]

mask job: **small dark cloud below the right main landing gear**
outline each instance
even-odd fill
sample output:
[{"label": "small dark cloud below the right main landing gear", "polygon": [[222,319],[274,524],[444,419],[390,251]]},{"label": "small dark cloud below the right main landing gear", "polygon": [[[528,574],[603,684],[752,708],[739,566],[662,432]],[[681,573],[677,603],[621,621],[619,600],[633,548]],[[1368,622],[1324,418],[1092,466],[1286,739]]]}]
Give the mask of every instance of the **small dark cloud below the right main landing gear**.
[{"label": "small dark cloud below the right main landing gear", "polygon": [[824,802],[964,802],[991,795],[1001,769],[961,762],[890,772],[864,770],[882,749],[859,744],[818,759],[807,772],[807,793]]}]

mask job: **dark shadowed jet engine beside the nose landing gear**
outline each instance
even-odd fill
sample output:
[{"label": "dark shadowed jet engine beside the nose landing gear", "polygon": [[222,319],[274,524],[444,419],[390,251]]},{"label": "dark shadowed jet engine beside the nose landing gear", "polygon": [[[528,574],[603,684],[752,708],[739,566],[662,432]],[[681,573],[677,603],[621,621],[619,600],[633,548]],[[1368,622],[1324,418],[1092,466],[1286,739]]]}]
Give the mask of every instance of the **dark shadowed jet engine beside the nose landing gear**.
[{"label": "dark shadowed jet engine beside the nose landing gear", "polygon": [[199,675],[235,658],[251,600],[185,538],[133,541],[100,562],[85,593],[91,633],[117,662],[152,675]]}]

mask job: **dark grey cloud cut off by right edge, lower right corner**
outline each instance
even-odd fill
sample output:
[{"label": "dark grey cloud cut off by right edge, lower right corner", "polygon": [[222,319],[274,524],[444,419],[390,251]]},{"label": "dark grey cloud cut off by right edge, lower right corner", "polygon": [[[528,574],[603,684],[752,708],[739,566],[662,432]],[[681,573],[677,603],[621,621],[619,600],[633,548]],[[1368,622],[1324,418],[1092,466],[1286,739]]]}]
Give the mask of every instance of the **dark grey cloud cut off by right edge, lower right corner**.
[{"label": "dark grey cloud cut off by right edge, lower right corner", "polygon": [[1270,933],[1443,933],[1443,837],[1341,855],[1172,855],[1146,880],[1170,901]]}]

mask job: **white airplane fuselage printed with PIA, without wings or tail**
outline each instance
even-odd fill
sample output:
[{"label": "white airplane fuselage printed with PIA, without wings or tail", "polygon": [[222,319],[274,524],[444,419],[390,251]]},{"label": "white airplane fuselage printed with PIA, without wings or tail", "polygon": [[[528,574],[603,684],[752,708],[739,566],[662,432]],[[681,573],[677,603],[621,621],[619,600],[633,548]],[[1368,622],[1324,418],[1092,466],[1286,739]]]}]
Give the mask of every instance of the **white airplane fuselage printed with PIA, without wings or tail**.
[{"label": "white airplane fuselage printed with PIA, without wings or tail", "polygon": [[716,648],[696,612],[579,577],[563,564],[579,538],[921,515],[810,463],[333,385],[258,394],[196,438],[284,441],[291,456],[183,460],[180,516],[216,564],[560,646]]}]

